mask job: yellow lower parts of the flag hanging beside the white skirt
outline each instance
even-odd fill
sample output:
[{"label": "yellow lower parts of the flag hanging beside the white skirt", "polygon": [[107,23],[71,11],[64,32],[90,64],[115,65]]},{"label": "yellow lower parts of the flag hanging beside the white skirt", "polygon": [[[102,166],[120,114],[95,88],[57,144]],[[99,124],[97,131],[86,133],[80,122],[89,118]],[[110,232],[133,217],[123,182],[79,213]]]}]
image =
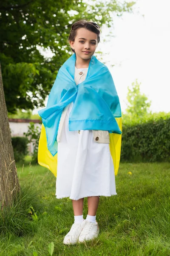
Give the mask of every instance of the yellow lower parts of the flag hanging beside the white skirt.
[{"label": "yellow lower parts of the flag hanging beside the white skirt", "polygon": [[[122,117],[116,118],[120,130],[122,131]],[[110,136],[110,151],[113,158],[115,175],[118,173],[121,151],[122,135],[109,134]],[[39,146],[38,146],[38,163],[41,166],[48,168],[57,177],[57,154],[53,157],[47,148],[47,139],[45,127],[42,124]]]}]

